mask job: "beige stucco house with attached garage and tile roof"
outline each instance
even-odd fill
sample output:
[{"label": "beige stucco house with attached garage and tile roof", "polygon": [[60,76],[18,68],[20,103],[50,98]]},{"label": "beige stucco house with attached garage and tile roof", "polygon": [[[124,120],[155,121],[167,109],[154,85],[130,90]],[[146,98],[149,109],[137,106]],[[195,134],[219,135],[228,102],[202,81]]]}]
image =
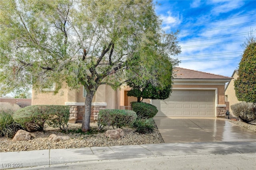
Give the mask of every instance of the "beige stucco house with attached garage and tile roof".
[{"label": "beige stucco house with attached garage and tile roof", "polygon": [[[232,78],[189,70],[174,68],[174,84],[170,98],[166,100],[148,100],[143,102],[153,104],[158,108],[156,116],[170,117],[220,117],[226,113],[225,84]],[[70,106],[70,122],[82,121],[86,92],[69,90],[66,85],[54,95],[54,89],[38,93],[32,91],[32,105],[56,104]],[[130,109],[130,102],[135,97],[128,97],[128,86],[120,86],[113,90],[108,85],[101,85],[92,102],[91,121],[96,121],[100,109]]]}]

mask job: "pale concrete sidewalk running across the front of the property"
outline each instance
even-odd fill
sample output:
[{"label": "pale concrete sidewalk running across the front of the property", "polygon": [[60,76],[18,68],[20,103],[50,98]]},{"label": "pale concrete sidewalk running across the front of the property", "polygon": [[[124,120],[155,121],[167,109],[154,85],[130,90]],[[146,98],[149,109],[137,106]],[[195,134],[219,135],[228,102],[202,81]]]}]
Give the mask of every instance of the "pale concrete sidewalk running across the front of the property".
[{"label": "pale concrete sidewalk running across the front of the property", "polygon": [[0,169],[37,166],[44,166],[47,168],[58,164],[96,160],[254,153],[256,153],[256,142],[162,143],[114,147],[0,152]]}]

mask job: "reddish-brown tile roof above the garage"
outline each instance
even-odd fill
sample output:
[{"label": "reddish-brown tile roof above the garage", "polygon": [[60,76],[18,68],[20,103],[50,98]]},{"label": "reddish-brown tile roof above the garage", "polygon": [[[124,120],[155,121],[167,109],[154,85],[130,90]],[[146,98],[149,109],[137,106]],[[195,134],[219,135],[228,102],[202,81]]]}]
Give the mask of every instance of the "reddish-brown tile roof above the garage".
[{"label": "reddish-brown tile roof above the garage", "polygon": [[201,72],[196,70],[190,70],[187,68],[175,67],[174,79],[232,79],[231,77],[212,74],[208,72]]}]

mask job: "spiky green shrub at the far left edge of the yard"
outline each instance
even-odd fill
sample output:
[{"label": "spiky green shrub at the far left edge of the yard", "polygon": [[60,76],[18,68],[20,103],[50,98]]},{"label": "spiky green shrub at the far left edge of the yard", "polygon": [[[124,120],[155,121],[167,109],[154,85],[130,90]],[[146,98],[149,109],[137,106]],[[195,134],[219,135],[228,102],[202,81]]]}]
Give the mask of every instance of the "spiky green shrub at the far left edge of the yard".
[{"label": "spiky green shrub at the far left edge of the yard", "polygon": [[13,111],[0,110],[0,137],[12,138],[22,127],[14,122],[12,118]]}]

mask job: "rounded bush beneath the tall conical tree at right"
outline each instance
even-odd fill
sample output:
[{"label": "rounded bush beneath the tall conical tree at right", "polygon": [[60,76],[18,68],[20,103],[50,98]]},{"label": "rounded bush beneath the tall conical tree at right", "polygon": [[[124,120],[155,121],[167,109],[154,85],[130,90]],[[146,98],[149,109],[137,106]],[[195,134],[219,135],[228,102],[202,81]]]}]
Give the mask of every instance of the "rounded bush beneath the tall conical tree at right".
[{"label": "rounded bush beneath the tall conical tree at right", "polygon": [[245,123],[256,120],[256,104],[241,102],[231,106],[231,109],[237,117]]}]

